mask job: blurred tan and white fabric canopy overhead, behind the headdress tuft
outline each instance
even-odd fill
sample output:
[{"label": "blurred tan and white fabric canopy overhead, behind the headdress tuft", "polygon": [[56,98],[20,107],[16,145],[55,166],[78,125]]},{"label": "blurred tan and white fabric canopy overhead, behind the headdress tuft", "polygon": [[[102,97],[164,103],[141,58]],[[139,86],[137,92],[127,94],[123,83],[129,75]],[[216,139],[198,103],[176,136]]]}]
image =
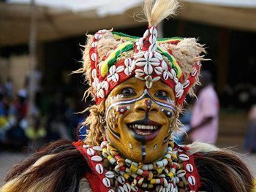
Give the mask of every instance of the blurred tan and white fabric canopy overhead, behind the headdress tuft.
[{"label": "blurred tan and white fabric canopy overhead, behind the headdress tuft", "polygon": [[[0,2],[0,45],[27,43],[29,0]],[[132,15],[141,13],[140,0],[36,0],[37,39],[49,41],[102,28],[146,25]],[[255,0],[184,0],[176,17],[214,26],[256,31]]]}]

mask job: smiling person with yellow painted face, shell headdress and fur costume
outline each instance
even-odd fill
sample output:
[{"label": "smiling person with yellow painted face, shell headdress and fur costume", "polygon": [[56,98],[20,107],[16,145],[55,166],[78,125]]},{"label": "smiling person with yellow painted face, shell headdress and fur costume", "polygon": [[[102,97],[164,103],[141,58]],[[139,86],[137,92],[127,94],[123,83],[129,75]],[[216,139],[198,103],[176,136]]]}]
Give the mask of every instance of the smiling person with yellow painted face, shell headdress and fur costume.
[{"label": "smiling person with yellow painted face, shell headdress and fur costume", "polygon": [[8,172],[2,192],[252,190],[252,175],[237,155],[173,141],[184,99],[198,81],[198,55],[205,53],[195,38],[157,39],[157,23],[177,7],[146,0],[141,38],[112,30],[88,35],[76,71],[95,101],[83,122],[86,139],[42,148]]}]

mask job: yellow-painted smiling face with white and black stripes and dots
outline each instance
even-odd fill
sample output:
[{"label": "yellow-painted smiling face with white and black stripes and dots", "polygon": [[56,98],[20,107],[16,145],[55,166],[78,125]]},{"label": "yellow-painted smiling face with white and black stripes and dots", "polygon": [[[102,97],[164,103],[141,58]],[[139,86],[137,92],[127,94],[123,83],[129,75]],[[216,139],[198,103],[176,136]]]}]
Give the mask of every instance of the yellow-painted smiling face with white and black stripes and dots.
[{"label": "yellow-painted smiling face with white and black stripes and dots", "polygon": [[108,141],[132,161],[162,158],[172,133],[174,99],[173,90],[161,81],[149,89],[135,77],[122,82],[105,101]]}]

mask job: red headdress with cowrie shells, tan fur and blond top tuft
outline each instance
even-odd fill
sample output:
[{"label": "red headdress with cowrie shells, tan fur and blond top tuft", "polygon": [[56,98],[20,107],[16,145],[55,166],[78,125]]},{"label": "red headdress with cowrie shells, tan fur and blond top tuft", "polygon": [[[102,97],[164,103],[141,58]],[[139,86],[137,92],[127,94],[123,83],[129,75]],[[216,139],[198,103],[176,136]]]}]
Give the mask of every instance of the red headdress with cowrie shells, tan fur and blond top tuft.
[{"label": "red headdress with cowrie shells, tan fur and blond top tuft", "polygon": [[79,72],[86,72],[97,104],[130,77],[144,80],[147,88],[162,80],[175,91],[178,104],[183,103],[189,88],[195,85],[202,59],[200,53],[205,50],[194,38],[157,38],[157,23],[173,15],[178,7],[175,0],[161,3],[146,1],[148,28],[143,37],[105,29],[88,36],[84,66]]}]

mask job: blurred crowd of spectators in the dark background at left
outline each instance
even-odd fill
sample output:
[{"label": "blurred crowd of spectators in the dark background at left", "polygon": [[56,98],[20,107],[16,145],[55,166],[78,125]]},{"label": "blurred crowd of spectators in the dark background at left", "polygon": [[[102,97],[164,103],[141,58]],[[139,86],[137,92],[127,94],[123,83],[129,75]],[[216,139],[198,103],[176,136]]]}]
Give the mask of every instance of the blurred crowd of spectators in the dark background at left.
[{"label": "blurred crowd of spectators in the dark background at left", "polygon": [[28,86],[14,91],[12,80],[0,82],[0,151],[24,150],[24,146],[42,147],[59,138],[72,139],[80,121],[80,108],[74,99],[56,91],[48,96],[35,93],[29,118]]}]

